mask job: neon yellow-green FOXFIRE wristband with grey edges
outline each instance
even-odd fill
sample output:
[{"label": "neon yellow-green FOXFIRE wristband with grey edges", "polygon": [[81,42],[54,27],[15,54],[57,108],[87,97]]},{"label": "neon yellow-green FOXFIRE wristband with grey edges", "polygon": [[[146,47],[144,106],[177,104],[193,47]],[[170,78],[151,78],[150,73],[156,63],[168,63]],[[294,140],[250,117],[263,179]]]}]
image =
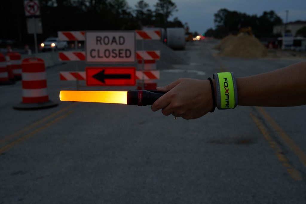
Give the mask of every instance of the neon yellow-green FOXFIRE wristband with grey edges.
[{"label": "neon yellow-green FOXFIRE wristband with grey edges", "polygon": [[216,73],[214,79],[217,89],[217,108],[219,110],[235,108],[238,104],[238,95],[233,72]]}]

